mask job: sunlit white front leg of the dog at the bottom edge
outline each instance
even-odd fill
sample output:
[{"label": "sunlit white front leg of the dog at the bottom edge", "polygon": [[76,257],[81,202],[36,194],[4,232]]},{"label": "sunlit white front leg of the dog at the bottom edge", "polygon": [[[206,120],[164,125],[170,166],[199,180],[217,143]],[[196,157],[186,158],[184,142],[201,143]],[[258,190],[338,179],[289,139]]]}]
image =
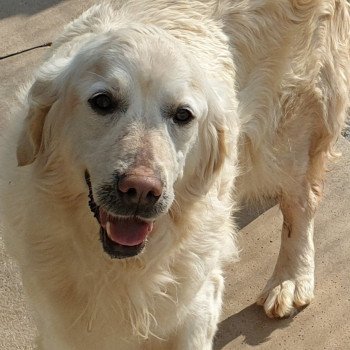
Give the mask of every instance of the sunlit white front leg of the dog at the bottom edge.
[{"label": "sunlit white front leg of the dog at the bottom edge", "polygon": [[224,281],[220,270],[212,272],[178,328],[173,350],[211,350],[221,312]]}]

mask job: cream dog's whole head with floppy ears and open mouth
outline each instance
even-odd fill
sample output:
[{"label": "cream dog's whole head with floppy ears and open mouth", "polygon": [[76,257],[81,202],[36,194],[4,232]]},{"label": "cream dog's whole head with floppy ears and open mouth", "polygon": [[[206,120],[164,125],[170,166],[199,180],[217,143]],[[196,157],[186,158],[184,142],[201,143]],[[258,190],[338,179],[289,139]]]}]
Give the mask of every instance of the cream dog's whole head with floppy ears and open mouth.
[{"label": "cream dog's whole head with floppy ears and open mouth", "polygon": [[71,172],[63,181],[77,175],[88,184],[105,251],[137,255],[180,188],[182,198],[203,196],[220,173],[231,103],[225,94],[232,94],[213,77],[156,28],[94,35],[43,66],[29,94],[18,163],[60,154]]}]

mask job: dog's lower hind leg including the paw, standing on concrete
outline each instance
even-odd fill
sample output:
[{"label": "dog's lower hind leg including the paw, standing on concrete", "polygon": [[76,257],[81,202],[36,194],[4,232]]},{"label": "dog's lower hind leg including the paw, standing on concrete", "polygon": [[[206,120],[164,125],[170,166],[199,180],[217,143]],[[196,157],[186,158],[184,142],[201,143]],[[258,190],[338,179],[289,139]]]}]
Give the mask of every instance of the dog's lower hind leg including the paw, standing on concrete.
[{"label": "dog's lower hind leg including the paw, standing on concrete", "polygon": [[314,211],[317,195],[281,198],[283,214],[281,248],[271,279],[258,298],[269,317],[290,315],[310,303],[314,292]]}]

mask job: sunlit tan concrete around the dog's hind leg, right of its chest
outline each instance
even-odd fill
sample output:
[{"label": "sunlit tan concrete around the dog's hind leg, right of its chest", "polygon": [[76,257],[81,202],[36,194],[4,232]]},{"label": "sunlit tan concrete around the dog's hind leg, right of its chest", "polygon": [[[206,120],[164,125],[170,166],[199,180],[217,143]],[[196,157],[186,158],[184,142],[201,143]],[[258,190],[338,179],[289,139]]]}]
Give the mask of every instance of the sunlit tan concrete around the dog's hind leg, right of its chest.
[{"label": "sunlit tan concrete around the dog's hind leg, right of its chest", "polygon": [[[314,301],[293,318],[271,320],[254,304],[273,271],[279,250],[277,206],[239,233],[241,259],[226,269],[226,297],[215,350],[350,349],[350,143],[330,165],[315,222]],[[244,216],[244,214],[243,214]]]}]

